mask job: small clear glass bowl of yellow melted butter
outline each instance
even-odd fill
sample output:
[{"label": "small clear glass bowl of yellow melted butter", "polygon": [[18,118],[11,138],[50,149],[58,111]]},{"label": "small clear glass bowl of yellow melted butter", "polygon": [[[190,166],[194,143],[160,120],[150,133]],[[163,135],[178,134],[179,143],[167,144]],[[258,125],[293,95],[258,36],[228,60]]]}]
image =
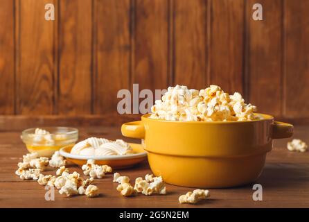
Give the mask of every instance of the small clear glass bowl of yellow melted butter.
[{"label": "small clear glass bowl of yellow melted butter", "polygon": [[78,129],[69,127],[44,127],[50,134],[35,134],[36,128],[24,130],[21,139],[30,153],[40,157],[51,157],[63,146],[74,145],[78,141]]}]

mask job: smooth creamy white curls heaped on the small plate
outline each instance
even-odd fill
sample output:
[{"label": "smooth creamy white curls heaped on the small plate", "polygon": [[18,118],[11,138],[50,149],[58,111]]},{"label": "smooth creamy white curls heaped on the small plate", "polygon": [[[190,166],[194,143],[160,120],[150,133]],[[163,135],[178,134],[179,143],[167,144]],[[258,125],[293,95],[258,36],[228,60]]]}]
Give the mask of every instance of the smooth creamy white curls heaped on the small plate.
[{"label": "smooth creamy white curls heaped on the small plate", "polygon": [[133,153],[133,149],[122,139],[112,141],[90,137],[74,145],[71,153],[77,155],[127,155]]}]

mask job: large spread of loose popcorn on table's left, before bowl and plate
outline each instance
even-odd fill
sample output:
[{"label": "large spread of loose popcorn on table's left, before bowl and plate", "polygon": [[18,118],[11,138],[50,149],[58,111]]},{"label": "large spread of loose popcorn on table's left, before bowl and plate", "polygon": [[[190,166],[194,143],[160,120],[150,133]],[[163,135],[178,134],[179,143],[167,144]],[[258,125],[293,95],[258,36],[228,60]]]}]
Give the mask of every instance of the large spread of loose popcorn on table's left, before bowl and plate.
[{"label": "large spread of loose popcorn on table's left, before bowl and plate", "polygon": [[[56,171],[56,175],[43,175],[42,171],[46,167],[60,167]],[[67,196],[86,195],[87,197],[94,197],[99,195],[99,189],[95,185],[91,185],[94,182],[94,177],[87,178],[86,180],[80,177],[80,174],[76,171],[69,173],[69,169],[65,167],[67,160],[56,151],[51,160],[47,157],[37,157],[37,153],[28,153],[23,156],[23,162],[18,163],[19,169],[15,172],[22,180],[37,180],[39,185],[51,186],[59,189],[60,194]],[[102,178],[104,173],[111,173],[112,168],[104,165],[99,166],[94,164],[94,160],[88,160],[87,171],[84,174],[90,176],[93,175],[96,178]],[[84,167],[83,166],[83,167]],[[94,171],[94,173],[91,173]],[[98,174],[97,174],[98,173]]]}]

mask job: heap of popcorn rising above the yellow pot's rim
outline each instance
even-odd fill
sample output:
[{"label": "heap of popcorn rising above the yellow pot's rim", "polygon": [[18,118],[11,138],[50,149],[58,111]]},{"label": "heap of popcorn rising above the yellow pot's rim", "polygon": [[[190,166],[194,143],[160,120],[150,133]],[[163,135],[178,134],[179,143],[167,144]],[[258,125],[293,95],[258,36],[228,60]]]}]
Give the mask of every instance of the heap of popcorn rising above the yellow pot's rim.
[{"label": "heap of popcorn rising above the yellow pot's rim", "polygon": [[250,121],[261,119],[254,114],[256,106],[245,103],[241,94],[229,95],[218,86],[188,89],[168,87],[161,100],[155,101],[150,118],[170,121]]}]

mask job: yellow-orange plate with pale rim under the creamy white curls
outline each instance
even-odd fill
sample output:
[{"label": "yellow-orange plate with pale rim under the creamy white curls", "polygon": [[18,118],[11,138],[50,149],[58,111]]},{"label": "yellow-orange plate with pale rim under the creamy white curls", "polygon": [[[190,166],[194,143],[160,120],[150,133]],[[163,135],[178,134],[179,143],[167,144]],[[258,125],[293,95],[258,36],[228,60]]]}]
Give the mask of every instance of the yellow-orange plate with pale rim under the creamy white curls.
[{"label": "yellow-orange plate with pale rim under the creamy white curls", "polygon": [[99,165],[109,165],[110,167],[114,168],[126,168],[132,167],[139,162],[145,160],[147,157],[147,153],[143,150],[141,144],[130,144],[133,148],[134,154],[129,155],[76,155],[71,154],[71,149],[73,148],[72,145],[64,146],[60,149],[60,154],[67,158],[67,160],[78,164],[83,165],[87,163],[87,160],[92,159],[96,160],[96,164]]}]

